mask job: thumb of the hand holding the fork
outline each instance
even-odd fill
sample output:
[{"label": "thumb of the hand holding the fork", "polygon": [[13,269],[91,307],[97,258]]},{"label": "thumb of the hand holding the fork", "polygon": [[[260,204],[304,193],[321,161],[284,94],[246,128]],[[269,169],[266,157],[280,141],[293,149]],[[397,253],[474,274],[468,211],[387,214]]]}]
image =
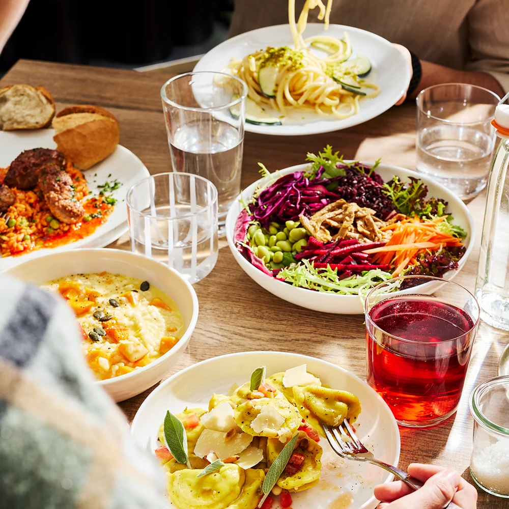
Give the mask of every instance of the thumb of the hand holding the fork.
[{"label": "thumb of the hand holding the fork", "polygon": [[[440,470],[432,475],[425,485],[409,495],[393,501],[390,509],[439,509],[445,507],[455,496],[461,483],[461,476],[454,470]],[[384,502],[386,500],[383,500]]]}]

